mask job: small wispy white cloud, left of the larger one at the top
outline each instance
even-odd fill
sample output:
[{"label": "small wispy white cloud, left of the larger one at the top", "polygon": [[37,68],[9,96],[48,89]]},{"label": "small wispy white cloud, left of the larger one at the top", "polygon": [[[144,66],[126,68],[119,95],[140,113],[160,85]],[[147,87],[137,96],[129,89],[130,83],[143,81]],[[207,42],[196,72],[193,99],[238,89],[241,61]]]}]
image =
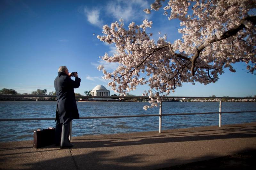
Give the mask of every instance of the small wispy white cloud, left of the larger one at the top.
[{"label": "small wispy white cloud, left of the larger one at the top", "polygon": [[100,9],[88,9],[84,7],[84,15],[87,17],[87,21],[89,21],[92,25],[102,27],[103,20],[100,19]]}]

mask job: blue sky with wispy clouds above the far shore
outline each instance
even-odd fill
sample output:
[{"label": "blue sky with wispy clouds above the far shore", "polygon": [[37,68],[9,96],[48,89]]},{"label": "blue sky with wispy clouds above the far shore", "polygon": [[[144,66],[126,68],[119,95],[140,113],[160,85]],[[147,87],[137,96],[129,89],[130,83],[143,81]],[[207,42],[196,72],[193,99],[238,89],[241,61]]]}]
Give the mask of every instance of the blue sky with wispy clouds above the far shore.
[{"label": "blue sky with wispy clouds above the far shore", "polygon": [[[152,38],[167,34],[171,43],[181,38],[179,22],[168,21],[163,10],[152,11],[154,0],[1,0],[0,1],[0,89],[14,89],[18,93],[31,93],[36,89],[55,91],[54,79],[60,66],[67,66],[69,72],[78,72],[81,84],[75,93],[84,95],[96,85],[117,94],[102,79],[97,69],[104,65],[113,71],[118,65],[106,63],[99,58],[115,53],[115,46],[101,42],[102,26],[123,18],[126,28],[133,21],[142,24],[147,18],[153,21],[148,33]],[[161,35],[158,34],[161,31]],[[216,83],[208,85],[183,83],[170,96],[232,96],[256,95],[256,76],[246,73],[245,63],[233,65],[236,73],[228,70],[220,75]],[[148,85],[138,86],[130,94],[141,96]]]}]

